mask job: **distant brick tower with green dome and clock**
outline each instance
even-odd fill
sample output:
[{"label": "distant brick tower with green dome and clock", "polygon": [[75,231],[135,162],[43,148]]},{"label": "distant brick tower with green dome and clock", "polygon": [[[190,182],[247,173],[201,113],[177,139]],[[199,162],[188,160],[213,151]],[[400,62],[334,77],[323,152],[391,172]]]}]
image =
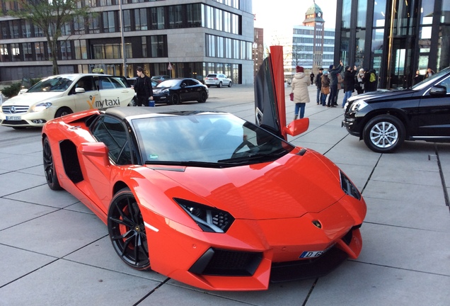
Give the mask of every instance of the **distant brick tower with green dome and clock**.
[{"label": "distant brick tower with green dome and clock", "polygon": [[313,5],[306,11],[304,26],[314,27],[313,32],[313,72],[318,73],[318,69],[323,67],[323,42],[325,36],[325,21],[322,18],[321,8],[313,1]]}]

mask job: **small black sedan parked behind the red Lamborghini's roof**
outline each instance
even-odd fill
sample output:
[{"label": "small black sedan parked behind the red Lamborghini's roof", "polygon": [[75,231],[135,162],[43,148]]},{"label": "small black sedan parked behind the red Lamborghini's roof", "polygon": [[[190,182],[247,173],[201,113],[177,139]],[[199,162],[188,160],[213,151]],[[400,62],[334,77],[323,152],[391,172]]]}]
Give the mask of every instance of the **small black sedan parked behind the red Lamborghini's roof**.
[{"label": "small black sedan parked behind the red Lamborghini's roof", "polygon": [[185,101],[204,103],[208,95],[208,87],[191,78],[168,79],[153,89],[155,103],[178,104]]}]

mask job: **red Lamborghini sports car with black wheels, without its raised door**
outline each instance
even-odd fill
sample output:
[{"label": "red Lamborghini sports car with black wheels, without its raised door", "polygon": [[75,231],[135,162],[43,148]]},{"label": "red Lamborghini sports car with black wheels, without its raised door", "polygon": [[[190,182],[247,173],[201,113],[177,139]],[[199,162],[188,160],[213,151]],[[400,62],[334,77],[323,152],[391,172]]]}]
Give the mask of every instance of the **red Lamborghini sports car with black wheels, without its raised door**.
[{"label": "red Lamborghini sports car with black wheels, without its raised door", "polygon": [[282,120],[267,109],[257,125],[196,107],[51,120],[42,129],[48,185],[108,225],[127,265],[198,288],[265,290],[359,256],[361,194],[329,159],[282,137],[304,132],[307,119],[277,130],[270,118]]}]

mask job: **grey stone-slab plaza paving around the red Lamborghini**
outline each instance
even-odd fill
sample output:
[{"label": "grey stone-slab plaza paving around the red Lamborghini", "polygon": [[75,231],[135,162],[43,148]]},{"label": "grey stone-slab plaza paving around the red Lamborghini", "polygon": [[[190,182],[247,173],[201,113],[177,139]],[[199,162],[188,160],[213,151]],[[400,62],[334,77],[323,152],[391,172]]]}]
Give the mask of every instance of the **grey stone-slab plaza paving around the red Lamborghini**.
[{"label": "grey stone-slab plaza paving around the red Lamborghini", "polygon": [[[450,144],[405,142],[395,154],[371,152],[341,128],[342,108],[316,105],[316,86],[309,90],[310,127],[289,140],[325,154],[362,191],[367,217],[357,260],[260,292],[205,291],[134,271],[96,215],[48,188],[40,130],[0,127],[0,306],[450,305]],[[251,85],[210,88],[204,106],[255,122]]]}]

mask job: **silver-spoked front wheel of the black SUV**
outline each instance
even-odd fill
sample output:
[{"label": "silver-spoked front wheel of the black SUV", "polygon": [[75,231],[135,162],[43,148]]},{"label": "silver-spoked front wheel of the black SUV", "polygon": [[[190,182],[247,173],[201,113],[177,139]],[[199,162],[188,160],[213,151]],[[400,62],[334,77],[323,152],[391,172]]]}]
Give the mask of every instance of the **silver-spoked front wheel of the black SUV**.
[{"label": "silver-spoked front wheel of the black SUV", "polygon": [[393,115],[378,115],[364,126],[364,143],[374,152],[394,152],[405,140],[405,125]]}]

